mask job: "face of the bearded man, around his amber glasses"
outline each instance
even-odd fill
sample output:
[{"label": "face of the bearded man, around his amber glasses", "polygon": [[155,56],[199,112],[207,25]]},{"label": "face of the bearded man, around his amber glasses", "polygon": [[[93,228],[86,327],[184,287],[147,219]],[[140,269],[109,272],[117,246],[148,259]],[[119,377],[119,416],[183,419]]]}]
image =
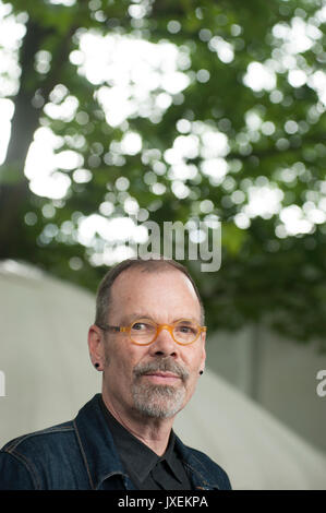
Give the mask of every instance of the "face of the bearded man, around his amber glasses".
[{"label": "face of the bearded man, around his amber glasses", "polygon": [[[201,324],[196,294],[189,278],[178,270],[156,273],[126,270],[114,281],[111,294],[112,308],[107,320],[110,325],[128,326],[144,318],[157,324],[171,324],[180,319],[193,319]],[[98,348],[104,394],[113,406],[119,405],[129,415],[169,418],[185,406],[195,390],[205,362],[205,333],[193,344],[182,346],[167,330],[161,330],[153,344],[138,346],[132,344],[126,333],[101,332]]]}]

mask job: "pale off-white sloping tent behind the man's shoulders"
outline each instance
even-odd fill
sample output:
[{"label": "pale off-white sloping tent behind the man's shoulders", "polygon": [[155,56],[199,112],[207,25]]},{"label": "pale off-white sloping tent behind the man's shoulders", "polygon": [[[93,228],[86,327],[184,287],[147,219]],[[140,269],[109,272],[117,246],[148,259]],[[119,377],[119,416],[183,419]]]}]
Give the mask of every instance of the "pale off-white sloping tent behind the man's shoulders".
[{"label": "pale off-white sloping tent behind the man's shoulders", "polygon": [[[85,290],[0,263],[0,446],[73,418],[100,391],[86,344],[94,312]],[[325,454],[209,370],[174,429],[219,463],[234,489],[326,489]]]}]

